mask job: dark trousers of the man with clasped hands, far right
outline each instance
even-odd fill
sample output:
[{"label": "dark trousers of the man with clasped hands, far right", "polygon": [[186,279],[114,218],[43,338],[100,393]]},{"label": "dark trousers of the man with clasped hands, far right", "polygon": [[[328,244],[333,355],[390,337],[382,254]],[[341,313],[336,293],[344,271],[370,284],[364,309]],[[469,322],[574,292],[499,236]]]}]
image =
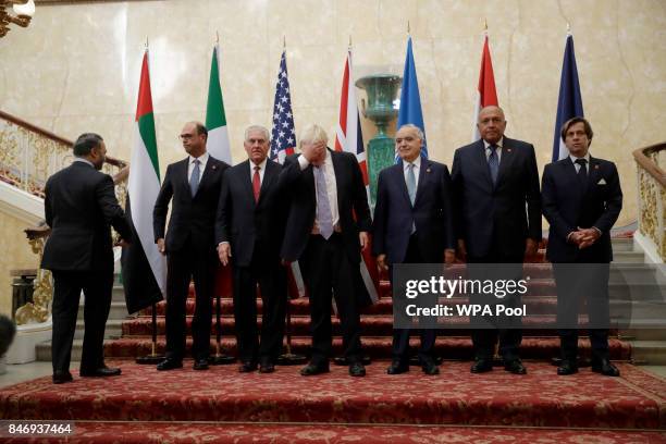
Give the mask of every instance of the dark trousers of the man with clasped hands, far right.
[{"label": "dark trousers of the man with clasped hands, far right", "polygon": [[578,359],[578,314],[584,300],[588,308],[592,359],[608,358],[608,278],[607,263],[553,264],[557,285],[557,325],[562,358]]}]

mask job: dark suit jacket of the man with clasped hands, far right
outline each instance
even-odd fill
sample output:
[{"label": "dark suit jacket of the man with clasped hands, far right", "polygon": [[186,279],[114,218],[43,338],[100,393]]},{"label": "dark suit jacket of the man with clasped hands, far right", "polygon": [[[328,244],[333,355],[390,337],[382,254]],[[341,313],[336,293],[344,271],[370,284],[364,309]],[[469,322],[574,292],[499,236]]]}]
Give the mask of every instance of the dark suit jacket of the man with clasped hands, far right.
[{"label": "dark suit jacket of the man with clasped hands, far right", "polygon": [[[570,158],[550,163],[543,171],[543,215],[551,224],[546,259],[551,262],[606,263],[613,260],[610,229],[622,208],[622,192],[615,163],[590,157],[583,189]],[[577,227],[596,226],[601,237],[579,250],[567,243]]]}]

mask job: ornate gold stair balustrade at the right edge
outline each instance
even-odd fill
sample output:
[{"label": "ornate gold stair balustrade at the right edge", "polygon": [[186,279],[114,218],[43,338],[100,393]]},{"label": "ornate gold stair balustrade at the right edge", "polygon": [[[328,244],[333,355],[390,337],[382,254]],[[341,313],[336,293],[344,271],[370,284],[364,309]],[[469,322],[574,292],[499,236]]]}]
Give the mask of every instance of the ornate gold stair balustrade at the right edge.
[{"label": "ornate gold stair balustrade at the right edge", "polygon": [[666,143],[633,151],[638,168],[639,231],[666,262]]}]

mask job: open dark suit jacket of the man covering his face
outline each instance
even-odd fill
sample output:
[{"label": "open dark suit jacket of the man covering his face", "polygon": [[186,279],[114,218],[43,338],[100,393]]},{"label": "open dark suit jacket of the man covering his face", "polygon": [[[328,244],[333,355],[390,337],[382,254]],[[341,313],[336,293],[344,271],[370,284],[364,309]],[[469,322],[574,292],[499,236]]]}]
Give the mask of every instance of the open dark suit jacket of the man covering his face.
[{"label": "open dark suit jacket of the man covering his face", "polygon": [[[337,186],[337,209],[345,250],[350,263],[359,263],[358,233],[370,231],[370,209],[366,186],[356,157],[349,152],[329,150]],[[317,196],[312,165],[300,171],[297,156],[286,158],[280,174],[280,187],[288,189],[291,206],[281,256],[296,261],[303,255],[314,224]]]}]

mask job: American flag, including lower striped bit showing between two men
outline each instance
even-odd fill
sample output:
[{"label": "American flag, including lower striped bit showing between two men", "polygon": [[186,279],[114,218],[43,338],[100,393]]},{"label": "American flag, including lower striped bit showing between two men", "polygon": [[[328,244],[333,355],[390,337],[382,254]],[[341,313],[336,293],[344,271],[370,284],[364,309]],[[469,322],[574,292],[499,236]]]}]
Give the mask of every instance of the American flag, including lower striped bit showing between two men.
[{"label": "American flag, including lower striped bit showing between two men", "polygon": [[[289,77],[286,70],[286,50],[282,51],[280,71],[275,84],[275,103],[273,106],[273,128],[271,131],[271,150],[269,158],[279,163],[294,153],[296,148],[296,130],[294,114],[292,113],[292,95],[289,92]],[[287,272],[288,291],[292,298],[305,296],[305,283],[298,262],[292,262]]]}]

